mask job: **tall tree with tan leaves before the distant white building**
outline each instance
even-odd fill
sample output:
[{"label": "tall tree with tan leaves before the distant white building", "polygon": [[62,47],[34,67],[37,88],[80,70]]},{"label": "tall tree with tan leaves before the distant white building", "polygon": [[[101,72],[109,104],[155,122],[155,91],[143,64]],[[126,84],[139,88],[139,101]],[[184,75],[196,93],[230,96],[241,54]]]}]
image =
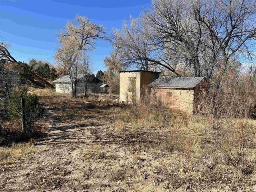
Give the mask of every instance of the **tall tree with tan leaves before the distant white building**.
[{"label": "tall tree with tan leaves before the distant white building", "polygon": [[55,59],[70,77],[73,97],[76,97],[78,62],[82,51],[94,49],[95,40],[103,38],[103,35],[104,28],[101,25],[92,24],[88,18],[79,15],[74,22],[68,22],[66,30],[58,35],[60,48]]}]

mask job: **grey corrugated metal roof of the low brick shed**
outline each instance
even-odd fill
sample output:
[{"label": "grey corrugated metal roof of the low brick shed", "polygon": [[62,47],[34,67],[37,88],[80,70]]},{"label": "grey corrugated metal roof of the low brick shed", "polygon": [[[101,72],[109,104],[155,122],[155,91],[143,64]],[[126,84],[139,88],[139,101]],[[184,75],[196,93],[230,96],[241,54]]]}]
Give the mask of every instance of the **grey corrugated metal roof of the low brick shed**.
[{"label": "grey corrugated metal roof of the low brick shed", "polygon": [[194,88],[204,77],[162,77],[154,80],[150,87],[181,87]]}]

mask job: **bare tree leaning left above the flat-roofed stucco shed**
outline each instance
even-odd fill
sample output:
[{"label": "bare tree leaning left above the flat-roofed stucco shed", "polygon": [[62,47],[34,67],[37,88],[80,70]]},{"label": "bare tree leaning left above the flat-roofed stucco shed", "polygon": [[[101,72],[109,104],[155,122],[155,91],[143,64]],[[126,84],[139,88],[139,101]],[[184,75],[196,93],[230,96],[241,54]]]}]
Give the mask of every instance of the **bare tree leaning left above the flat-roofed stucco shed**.
[{"label": "bare tree leaning left above the flat-roofed stucco shed", "polygon": [[165,50],[157,49],[148,38],[148,26],[142,20],[130,18],[130,26],[123,24],[123,31],[114,30],[112,43],[118,50],[118,57],[124,66],[150,70],[157,66],[165,67],[178,75],[174,68],[166,62]]}]

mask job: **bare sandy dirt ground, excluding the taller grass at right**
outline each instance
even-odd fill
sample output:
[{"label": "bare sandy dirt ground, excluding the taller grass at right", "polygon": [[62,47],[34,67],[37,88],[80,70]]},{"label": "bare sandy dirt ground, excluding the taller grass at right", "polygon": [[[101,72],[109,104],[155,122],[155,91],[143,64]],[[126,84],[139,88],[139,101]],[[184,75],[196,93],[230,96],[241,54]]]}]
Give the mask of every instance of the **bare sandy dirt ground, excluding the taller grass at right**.
[{"label": "bare sandy dirt ground, excluding the taller grass at right", "polygon": [[115,96],[34,92],[45,108],[35,127],[47,135],[0,164],[0,191],[256,191],[255,177],[231,174],[229,166],[186,170],[185,158],[163,150],[169,129],[117,123],[126,106]]}]

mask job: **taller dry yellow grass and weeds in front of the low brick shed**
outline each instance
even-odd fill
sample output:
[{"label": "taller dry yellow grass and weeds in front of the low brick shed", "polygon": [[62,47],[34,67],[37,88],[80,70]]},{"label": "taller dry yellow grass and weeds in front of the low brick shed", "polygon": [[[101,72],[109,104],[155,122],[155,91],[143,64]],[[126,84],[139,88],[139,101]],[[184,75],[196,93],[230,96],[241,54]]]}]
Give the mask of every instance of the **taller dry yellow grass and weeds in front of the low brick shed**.
[{"label": "taller dry yellow grass and weeds in front of the low brick shed", "polygon": [[[166,150],[178,155],[168,161],[176,164],[174,160],[178,160],[184,173],[204,174],[205,168],[208,167],[210,170],[213,168],[218,170],[218,174],[223,174],[228,169],[242,178],[244,178],[242,175],[250,175],[248,179],[254,183],[255,120],[222,119],[218,123],[220,126],[218,130],[212,130],[213,119],[210,117],[179,114],[158,106],[138,103],[121,113],[116,124],[119,125],[120,122],[132,126],[127,135],[134,135],[136,138],[140,129],[144,134],[150,132],[156,138],[161,138],[161,153]],[[158,131],[157,134],[154,133],[154,129]],[[148,139],[150,138],[148,136]],[[137,152],[134,153],[134,157],[138,158]],[[218,167],[225,168],[221,171]],[[197,178],[192,175],[189,177]],[[232,184],[239,186],[239,181],[235,180]]]}]

